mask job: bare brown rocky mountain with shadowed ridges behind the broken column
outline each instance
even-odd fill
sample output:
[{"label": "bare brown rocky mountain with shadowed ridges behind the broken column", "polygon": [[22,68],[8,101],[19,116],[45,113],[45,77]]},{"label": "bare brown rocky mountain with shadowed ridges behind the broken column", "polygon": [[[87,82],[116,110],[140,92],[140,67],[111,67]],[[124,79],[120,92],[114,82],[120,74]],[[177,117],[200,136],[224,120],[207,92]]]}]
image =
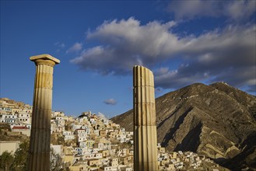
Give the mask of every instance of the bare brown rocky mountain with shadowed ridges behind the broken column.
[{"label": "bare brown rocky mountain with shadowed ridges behind the broken column", "polygon": [[[256,97],[217,82],[193,84],[156,99],[157,140],[169,151],[191,151],[230,169],[256,168]],[[133,130],[133,112],[113,117]]]}]

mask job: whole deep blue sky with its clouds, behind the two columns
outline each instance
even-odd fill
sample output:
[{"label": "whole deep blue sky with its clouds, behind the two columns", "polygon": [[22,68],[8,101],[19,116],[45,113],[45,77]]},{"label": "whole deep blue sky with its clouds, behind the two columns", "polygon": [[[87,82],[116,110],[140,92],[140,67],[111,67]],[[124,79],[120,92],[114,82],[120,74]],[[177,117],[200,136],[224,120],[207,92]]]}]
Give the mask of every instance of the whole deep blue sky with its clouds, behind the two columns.
[{"label": "whole deep blue sky with its clouds, behind the two columns", "polygon": [[107,117],[132,109],[132,66],[156,96],[195,82],[256,93],[254,0],[1,1],[0,97],[33,101],[37,54],[54,67],[53,110]]}]

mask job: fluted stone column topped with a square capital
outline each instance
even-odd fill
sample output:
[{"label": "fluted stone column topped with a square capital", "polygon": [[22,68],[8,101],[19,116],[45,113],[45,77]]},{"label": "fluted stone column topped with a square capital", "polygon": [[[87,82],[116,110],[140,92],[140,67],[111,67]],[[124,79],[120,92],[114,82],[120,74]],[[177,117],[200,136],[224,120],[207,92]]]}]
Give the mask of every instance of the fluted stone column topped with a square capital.
[{"label": "fluted stone column topped with a square capital", "polygon": [[30,57],[30,61],[35,62],[37,69],[33,92],[28,170],[50,170],[53,72],[54,65],[60,61],[49,54]]}]

